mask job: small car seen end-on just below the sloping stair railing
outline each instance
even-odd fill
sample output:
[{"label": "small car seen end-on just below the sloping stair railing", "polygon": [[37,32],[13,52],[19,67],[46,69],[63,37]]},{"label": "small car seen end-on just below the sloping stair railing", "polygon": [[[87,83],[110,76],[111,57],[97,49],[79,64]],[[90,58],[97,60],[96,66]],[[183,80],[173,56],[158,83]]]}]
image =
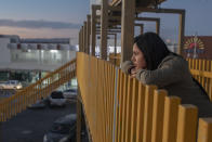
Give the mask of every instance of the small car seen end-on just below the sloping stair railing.
[{"label": "small car seen end-on just below the sloping stair railing", "polygon": [[66,99],[63,95],[62,91],[53,91],[49,96],[50,106],[65,106]]}]

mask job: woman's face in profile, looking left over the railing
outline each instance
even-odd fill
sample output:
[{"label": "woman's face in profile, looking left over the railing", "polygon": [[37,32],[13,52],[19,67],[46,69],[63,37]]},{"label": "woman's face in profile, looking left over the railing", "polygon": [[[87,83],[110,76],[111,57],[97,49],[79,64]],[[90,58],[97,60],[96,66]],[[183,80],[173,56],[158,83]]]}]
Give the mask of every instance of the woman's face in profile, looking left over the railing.
[{"label": "woman's face in profile, looking left over the railing", "polygon": [[133,44],[133,55],[131,57],[136,69],[146,68],[146,60],[143,52],[138,49],[137,44]]}]

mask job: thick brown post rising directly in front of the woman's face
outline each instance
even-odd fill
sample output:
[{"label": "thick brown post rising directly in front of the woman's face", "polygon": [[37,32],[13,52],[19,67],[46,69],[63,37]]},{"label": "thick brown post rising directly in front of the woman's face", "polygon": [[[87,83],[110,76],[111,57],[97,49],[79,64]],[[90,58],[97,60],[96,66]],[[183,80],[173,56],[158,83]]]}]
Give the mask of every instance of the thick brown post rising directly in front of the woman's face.
[{"label": "thick brown post rising directly in front of the woman's face", "polygon": [[130,60],[134,38],[135,1],[122,0],[121,10],[121,62]]}]

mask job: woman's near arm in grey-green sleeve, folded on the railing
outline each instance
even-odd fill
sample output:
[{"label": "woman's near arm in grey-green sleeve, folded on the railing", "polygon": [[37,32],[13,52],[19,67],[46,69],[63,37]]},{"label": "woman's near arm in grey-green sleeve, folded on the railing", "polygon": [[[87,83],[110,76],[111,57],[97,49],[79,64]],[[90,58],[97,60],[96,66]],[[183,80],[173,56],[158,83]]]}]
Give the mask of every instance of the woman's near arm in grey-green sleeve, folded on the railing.
[{"label": "woman's near arm in grey-green sleeve, folded on the railing", "polygon": [[181,81],[186,72],[188,72],[187,63],[177,57],[162,63],[156,70],[140,69],[136,78],[143,83],[156,85],[161,88]]}]

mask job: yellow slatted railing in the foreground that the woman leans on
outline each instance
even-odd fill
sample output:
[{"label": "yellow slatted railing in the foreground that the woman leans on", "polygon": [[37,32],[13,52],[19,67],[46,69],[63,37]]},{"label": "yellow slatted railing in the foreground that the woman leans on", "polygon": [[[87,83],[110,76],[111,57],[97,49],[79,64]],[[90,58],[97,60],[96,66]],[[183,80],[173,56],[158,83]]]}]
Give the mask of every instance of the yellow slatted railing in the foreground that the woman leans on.
[{"label": "yellow slatted railing in the foreground that the woman leans on", "polygon": [[212,118],[84,53],[77,78],[93,142],[211,142]]}]

